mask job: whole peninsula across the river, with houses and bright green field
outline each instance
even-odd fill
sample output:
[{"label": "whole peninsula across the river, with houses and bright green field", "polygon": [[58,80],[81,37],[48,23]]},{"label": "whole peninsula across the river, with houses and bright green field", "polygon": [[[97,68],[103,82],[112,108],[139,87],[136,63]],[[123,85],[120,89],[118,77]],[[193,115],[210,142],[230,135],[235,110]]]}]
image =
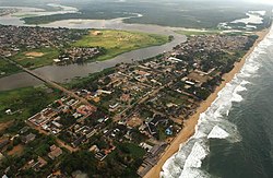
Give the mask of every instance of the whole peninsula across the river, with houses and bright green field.
[{"label": "whole peninsula across the river, with houses and bright green field", "polygon": [[[171,40],[164,35],[126,31],[12,25],[0,25],[0,55],[27,69],[107,60],[133,49]],[[8,69],[1,68],[0,74],[9,73]]]}]

